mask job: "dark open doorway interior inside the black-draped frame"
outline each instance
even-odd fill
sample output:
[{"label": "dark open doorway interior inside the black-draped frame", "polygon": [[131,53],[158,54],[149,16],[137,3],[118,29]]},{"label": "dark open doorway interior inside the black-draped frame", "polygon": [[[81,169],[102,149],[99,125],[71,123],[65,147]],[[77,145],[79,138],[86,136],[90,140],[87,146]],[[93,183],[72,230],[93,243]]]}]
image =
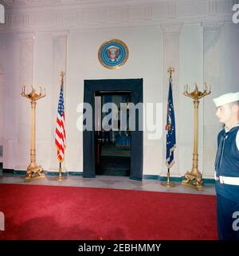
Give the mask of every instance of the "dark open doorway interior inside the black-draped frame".
[{"label": "dark open doorway interior inside the black-draped frame", "polygon": [[[131,131],[129,128],[129,103],[131,102],[131,92],[123,91],[97,91],[95,93],[96,124],[102,124],[100,131],[95,132],[95,156],[96,175],[117,175],[129,176],[131,169]],[[100,104],[97,105],[97,104]],[[108,111],[102,112],[103,106],[109,104]],[[112,106],[114,104],[114,113]],[[125,108],[127,115],[123,131],[120,129],[120,108]],[[108,115],[119,116],[117,120],[111,118],[107,124],[104,119]],[[98,116],[99,115],[99,116]],[[98,121],[98,119],[100,119]],[[108,129],[108,124],[111,128]],[[121,126],[123,126],[121,124]]]}]

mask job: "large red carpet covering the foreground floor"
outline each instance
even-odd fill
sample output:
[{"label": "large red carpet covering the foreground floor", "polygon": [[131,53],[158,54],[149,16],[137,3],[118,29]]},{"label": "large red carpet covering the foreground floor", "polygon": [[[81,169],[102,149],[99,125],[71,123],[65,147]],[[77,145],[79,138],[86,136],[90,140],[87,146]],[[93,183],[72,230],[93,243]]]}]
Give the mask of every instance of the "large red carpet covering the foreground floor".
[{"label": "large red carpet covering the foreground floor", "polygon": [[0,184],[0,239],[217,239],[216,197]]}]

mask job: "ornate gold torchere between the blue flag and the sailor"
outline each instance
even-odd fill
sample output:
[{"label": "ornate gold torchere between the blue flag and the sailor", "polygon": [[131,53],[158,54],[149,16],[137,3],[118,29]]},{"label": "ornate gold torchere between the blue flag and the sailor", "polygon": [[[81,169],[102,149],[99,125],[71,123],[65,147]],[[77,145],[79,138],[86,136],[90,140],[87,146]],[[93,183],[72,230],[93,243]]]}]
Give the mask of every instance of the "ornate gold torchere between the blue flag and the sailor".
[{"label": "ornate gold torchere between the blue flag and the sailor", "polygon": [[184,178],[182,180],[182,185],[193,187],[198,191],[203,191],[202,189],[202,174],[198,171],[198,105],[199,99],[203,96],[210,94],[210,86],[207,87],[205,83],[205,89],[203,92],[198,91],[198,85],[195,84],[194,92],[190,93],[188,85],[184,87],[185,96],[189,96],[194,100],[194,153],[193,153],[193,167],[191,171],[186,171]]}]

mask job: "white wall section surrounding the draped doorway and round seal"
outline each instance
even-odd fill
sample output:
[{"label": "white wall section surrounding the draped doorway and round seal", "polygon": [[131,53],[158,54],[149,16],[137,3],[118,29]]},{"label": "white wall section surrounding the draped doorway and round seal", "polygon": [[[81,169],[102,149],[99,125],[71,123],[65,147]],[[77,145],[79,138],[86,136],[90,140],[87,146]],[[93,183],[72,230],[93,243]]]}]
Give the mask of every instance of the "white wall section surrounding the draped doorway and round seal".
[{"label": "white wall section surrounding the draped doorway and round seal", "polygon": [[[98,61],[100,45],[111,38],[120,38],[129,49],[129,57],[121,69],[105,69]],[[150,40],[149,40],[150,38]],[[123,30],[71,31],[68,38],[67,108],[68,160],[67,167],[72,171],[82,171],[82,132],[76,129],[77,104],[83,102],[84,80],[122,79],[143,77],[143,101],[162,102],[163,57],[160,28],[137,28]],[[153,94],[151,92],[154,92]],[[147,140],[144,133],[143,169],[146,174],[157,174],[162,167],[162,140]],[[151,154],[151,151],[155,155]],[[157,156],[156,158],[154,156]],[[147,170],[147,171],[146,171]]]}]

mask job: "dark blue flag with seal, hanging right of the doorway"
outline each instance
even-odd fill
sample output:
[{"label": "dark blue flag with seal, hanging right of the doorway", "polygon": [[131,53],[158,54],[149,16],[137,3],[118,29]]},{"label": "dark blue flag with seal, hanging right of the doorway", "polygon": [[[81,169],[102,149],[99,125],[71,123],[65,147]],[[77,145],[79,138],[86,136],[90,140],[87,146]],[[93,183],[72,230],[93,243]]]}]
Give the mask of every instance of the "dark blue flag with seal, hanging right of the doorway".
[{"label": "dark blue flag with seal, hanging right of the doorway", "polygon": [[174,164],[174,148],[176,148],[176,132],[174,118],[174,102],[172,83],[170,78],[168,100],[167,100],[167,150],[166,150],[166,165],[168,169]]}]

